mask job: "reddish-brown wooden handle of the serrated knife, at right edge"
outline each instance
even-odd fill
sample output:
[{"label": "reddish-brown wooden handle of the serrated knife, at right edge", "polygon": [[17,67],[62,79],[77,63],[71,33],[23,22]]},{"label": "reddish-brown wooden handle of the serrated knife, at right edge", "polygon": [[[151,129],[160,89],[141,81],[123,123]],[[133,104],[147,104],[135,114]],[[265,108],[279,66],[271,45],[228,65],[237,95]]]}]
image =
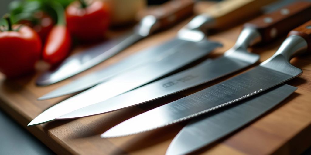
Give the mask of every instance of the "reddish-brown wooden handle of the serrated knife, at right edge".
[{"label": "reddish-brown wooden handle of the serrated knife, at right edge", "polygon": [[311,20],[291,30],[290,33],[288,33],[288,36],[290,35],[298,35],[304,38],[308,43],[308,51],[311,50]]}]

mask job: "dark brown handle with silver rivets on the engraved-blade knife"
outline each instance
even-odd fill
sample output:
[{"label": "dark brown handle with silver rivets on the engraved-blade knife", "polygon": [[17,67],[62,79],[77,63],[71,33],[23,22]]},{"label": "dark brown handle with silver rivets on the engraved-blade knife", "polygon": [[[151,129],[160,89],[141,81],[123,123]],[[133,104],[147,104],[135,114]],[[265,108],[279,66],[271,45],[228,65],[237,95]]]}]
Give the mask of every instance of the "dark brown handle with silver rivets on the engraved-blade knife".
[{"label": "dark brown handle with silver rivets on the engraved-blade knife", "polygon": [[299,1],[251,20],[244,27],[257,29],[262,36],[262,42],[269,42],[310,19],[311,2]]}]

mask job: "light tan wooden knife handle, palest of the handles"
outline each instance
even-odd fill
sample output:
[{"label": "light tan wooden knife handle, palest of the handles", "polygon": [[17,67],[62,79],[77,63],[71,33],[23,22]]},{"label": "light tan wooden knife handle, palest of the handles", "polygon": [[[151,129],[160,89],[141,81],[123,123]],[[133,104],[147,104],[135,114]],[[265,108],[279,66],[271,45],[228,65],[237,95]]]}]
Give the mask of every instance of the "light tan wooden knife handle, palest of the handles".
[{"label": "light tan wooden knife handle, palest of the handles", "polygon": [[205,13],[214,20],[213,27],[225,26],[258,13],[274,0],[223,0],[209,7]]}]

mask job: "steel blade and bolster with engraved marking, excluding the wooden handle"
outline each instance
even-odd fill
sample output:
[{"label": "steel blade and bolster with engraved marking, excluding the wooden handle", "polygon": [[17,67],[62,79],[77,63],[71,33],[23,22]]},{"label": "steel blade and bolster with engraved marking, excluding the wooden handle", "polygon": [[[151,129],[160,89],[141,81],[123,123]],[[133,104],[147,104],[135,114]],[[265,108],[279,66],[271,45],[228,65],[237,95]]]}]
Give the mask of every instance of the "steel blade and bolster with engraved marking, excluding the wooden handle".
[{"label": "steel blade and bolster with engraved marking, excluding the wooden handle", "polygon": [[[191,69],[176,73],[109,100],[78,109],[58,117],[57,119],[71,119],[107,113],[146,103],[210,82],[211,80],[220,78],[257,62],[259,55],[248,52],[247,47],[259,41],[260,34],[255,29],[245,28],[234,47],[226,51],[224,56],[213,60],[211,63],[203,62]],[[140,97],[137,97],[137,95]]]}]

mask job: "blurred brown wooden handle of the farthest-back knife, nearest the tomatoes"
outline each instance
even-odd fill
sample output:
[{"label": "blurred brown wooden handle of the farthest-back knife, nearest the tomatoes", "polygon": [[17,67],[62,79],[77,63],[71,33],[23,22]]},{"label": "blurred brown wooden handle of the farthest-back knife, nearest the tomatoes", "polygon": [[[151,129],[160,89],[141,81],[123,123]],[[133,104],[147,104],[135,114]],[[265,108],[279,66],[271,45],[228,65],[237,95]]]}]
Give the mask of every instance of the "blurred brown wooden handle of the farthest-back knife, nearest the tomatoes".
[{"label": "blurred brown wooden handle of the farthest-back knife, nearest the tomatoes", "polygon": [[194,0],[171,0],[148,12],[156,17],[159,28],[170,26],[193,14]]}]

